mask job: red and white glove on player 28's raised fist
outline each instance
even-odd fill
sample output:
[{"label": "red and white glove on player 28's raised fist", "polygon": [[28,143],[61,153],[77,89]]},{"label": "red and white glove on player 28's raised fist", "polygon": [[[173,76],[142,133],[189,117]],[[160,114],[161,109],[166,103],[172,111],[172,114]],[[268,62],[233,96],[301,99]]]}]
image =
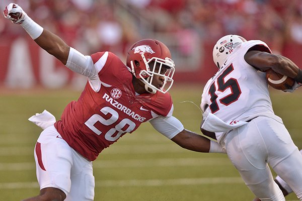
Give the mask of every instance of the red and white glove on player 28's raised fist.
[{"label": "red and white glove on player 28's raised fist", "polygon": [[15,24],[22,24],[27,14],[18,4],[9,4],[3,11],[4,16]]}]

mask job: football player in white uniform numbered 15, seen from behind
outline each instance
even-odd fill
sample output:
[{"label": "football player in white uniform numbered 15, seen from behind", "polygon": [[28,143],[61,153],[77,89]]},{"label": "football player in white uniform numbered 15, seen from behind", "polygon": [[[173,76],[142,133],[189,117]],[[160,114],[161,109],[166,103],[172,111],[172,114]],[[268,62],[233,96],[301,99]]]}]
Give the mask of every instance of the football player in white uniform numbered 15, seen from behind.
[{"label": "football player in white uniform numbered 15, seen from behind", "polygon": [[201,131],[217,139],[244,182],[261,200],[285,200],[268,164],[302,200],[302,156],[272,109],[265,71],[269,68],[302,81],[288,58],[272,54],[262,41],[227,35],[213,48],[218,72],[201,99]]}]

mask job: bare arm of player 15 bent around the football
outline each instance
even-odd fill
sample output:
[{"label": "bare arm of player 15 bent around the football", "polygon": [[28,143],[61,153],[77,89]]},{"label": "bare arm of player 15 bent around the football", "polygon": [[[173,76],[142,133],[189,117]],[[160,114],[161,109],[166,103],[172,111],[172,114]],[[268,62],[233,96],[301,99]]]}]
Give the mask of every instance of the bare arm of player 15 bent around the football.
[{"label": "bare arm of player 15 bent around the football", "polygon": [[244,59],[248,64],[263,72],[271,68],[275,72],[291,78],[296,77],[299,70],[297,65],[284,56],[261,52],[258,50],[248,51],[245,54]]}]

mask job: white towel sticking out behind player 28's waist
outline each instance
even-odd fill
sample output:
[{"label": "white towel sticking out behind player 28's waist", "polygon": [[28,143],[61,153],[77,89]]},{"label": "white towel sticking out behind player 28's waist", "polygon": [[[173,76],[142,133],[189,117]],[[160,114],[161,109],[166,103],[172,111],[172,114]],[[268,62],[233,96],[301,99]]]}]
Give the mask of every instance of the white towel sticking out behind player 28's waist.
[{"label": "white towel sticking out behind player 28's waist", "polygon": [[43,130],[52,126],[56,122],[55,117],[47,110],[44,110],[43,113],[36,113],[36,115],[31,116],[28,120]]}]

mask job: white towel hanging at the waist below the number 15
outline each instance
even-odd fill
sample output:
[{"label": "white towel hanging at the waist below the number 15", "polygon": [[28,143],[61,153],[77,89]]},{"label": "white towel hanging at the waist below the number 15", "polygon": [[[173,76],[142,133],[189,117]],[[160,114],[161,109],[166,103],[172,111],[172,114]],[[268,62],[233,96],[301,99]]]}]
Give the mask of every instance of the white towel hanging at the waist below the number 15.
[{"label": "white towel hanging at the waist below the number 15", "polygon": [[210,131],[210,132],[227,132],[243,125],[247,124],[247,122],[243,121],[229,121],[227,123],[223,122],[221,119],[209,113],[205,118],[204,123],[202,124],[201,128]]}]

